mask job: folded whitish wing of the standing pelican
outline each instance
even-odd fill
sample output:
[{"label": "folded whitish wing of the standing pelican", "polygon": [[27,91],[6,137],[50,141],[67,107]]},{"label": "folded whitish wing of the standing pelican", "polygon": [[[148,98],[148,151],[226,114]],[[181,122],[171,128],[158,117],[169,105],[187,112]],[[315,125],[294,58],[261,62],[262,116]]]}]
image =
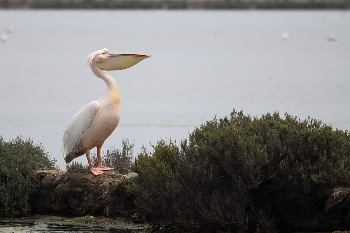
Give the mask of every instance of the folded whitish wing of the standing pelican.
[{"label": "folded whitish wing of the standing pelican", "polygon": [[64,155],[69,154],[80,143],[99,106],[97,101],[92,101],[70,119],[63,134],[62,149]]}]

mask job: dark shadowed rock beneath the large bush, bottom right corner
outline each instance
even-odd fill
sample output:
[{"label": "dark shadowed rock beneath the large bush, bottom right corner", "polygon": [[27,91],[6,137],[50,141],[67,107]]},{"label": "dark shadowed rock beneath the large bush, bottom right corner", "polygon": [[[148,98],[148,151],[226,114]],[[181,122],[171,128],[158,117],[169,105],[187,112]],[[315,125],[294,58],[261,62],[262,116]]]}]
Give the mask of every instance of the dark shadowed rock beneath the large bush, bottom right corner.
[{"label": "dark shadowed rock beneath the large bush, bottom right corner", "polygon": [[256,205],[282,232],[350,230],[349,187],[317,186],[306,193],[302,185],[266,182],[254,194],[261,197]]}]

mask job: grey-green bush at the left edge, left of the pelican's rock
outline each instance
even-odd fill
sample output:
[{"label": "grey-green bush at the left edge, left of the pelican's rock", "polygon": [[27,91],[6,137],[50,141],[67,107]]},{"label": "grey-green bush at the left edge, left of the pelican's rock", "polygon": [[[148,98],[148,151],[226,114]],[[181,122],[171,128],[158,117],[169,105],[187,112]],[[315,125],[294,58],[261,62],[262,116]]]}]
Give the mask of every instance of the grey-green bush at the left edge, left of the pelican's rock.
[{"label": "grey-green bush at the left edge, left of the pelican's rock", "polygon": [[32,172],[57,170],[55,163],[40,143],[22,137],[7,142],[0,136],[0,218],[29,215],[28,202],[37,187]]}]

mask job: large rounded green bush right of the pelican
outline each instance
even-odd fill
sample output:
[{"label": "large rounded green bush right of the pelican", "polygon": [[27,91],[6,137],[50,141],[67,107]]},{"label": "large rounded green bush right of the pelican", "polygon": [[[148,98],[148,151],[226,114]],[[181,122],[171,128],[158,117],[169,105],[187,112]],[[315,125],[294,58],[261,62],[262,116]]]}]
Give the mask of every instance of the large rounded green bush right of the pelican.
[{"label": "large rounded green bush right of the pelican", "polygon": [[153,153],[144,147],[128,191],[155,224],[267,232],[275,225],[254,190],[277,180],[302,185],[305,193],[316,185],[349,185],[349,139],[348,131],[310,117],[274,112],[258,118],[234,109],[195,128],[180,147],[163,139]]}]

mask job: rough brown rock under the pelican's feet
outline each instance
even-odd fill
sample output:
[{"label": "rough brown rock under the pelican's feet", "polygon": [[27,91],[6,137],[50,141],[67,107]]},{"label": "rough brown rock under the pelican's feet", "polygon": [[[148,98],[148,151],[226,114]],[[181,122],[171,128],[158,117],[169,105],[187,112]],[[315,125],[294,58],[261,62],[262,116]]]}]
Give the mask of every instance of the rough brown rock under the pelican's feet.
[{"label": "rough brown rock under the pelican's feet", "polygon": [[136,212],[133,196],[126,193],[120,181],[132,179],[136,173],[121,175],[110,170],[94,176],[88,169],[38,170],[35,176],[40,186],[32,204],[34,213],[129,218]]}]

